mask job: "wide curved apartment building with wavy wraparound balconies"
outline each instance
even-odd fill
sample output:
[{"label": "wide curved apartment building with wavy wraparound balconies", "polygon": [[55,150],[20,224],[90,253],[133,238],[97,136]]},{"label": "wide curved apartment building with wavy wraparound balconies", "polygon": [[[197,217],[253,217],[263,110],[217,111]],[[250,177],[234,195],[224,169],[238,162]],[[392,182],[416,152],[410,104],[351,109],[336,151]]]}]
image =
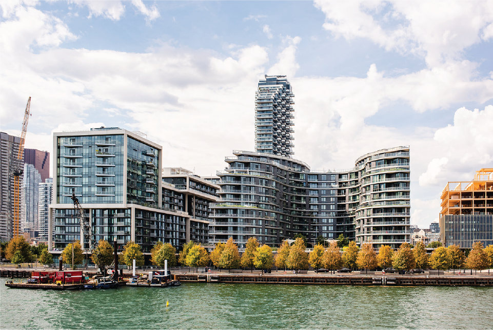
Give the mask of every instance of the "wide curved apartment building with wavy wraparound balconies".
[{"label": "wide curved apartment building with wavy wraparound balconies", "polygon": [[211,243],[250,237],[279,246],[296,234],[308,243],[343,234],[358,245],[410,242],[409,148],[366,154],[352,169],[311,170],[304,162],[233,151],[218,171],[221,200],[211,203]]}]

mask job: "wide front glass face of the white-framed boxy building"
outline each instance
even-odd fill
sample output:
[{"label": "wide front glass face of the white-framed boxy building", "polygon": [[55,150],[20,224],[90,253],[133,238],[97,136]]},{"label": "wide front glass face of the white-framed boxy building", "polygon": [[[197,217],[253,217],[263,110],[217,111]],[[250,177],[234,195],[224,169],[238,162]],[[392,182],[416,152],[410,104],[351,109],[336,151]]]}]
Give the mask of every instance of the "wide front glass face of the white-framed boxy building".
[{"label": "wide front glass face of the white-framed boxy building", "polygon": [[56,203],[123,203],[124,135],[58,138]]}]

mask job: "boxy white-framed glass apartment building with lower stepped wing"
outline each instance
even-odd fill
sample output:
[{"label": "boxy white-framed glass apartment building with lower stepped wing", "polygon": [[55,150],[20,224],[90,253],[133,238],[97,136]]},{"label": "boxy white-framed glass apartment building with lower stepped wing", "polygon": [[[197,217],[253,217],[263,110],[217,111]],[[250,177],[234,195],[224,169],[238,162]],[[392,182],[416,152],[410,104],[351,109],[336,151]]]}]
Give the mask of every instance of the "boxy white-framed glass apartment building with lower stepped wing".
[{"label": "boxy white-framed glass apartment building with lower stepped wing", "polygon": [[61,251],[81,239],[88,248],[72,193],[86,210],[95,239],[116,239],[119,251],[130,240],[146,256],[157,241],[176,248],[207,241],[208,203],[218,198],[219,187],[189,172],[163,174],[162,147],[144,134],[105,127],[54,133],[53,154],[50,248]]}]

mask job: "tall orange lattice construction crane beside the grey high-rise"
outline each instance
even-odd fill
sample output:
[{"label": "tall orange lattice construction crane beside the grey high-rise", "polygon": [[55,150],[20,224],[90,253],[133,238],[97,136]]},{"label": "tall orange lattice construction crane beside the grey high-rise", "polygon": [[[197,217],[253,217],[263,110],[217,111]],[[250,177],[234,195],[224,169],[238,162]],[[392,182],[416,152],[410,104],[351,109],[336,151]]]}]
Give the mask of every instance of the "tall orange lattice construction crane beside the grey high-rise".
[{"label": "tall orange lattice construction crane beside the grey high-rise", "polygon": [[26,111],[24,111],[24,122],[22,123],[21,141],[19,141],[19,148],[17,150],[17,156],[13,159],[12,176],[14,177],[14,207],[13,207],[13,237],[19,236],[19,195],[20,195],[20,181],[21,176],[24,173],[24,167],[22,166],[22,157],[24,155],[24,142],[26,141],[27,123],[29,122],[29,113],[31,111],[31,96],[27,99]]}]

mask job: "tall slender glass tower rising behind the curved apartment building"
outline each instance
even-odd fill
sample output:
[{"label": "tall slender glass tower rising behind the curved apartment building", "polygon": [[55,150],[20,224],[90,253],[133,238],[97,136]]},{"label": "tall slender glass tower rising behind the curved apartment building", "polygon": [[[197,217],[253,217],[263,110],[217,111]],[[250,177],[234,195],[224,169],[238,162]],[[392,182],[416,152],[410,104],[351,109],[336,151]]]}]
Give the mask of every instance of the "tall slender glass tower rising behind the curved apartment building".
[{"label": "tall slender glass tower rising behind the curved apartment building", "polygon": [[285,75],[265,75],[255,92],[255,152],[293,154],[294,94]]}]

